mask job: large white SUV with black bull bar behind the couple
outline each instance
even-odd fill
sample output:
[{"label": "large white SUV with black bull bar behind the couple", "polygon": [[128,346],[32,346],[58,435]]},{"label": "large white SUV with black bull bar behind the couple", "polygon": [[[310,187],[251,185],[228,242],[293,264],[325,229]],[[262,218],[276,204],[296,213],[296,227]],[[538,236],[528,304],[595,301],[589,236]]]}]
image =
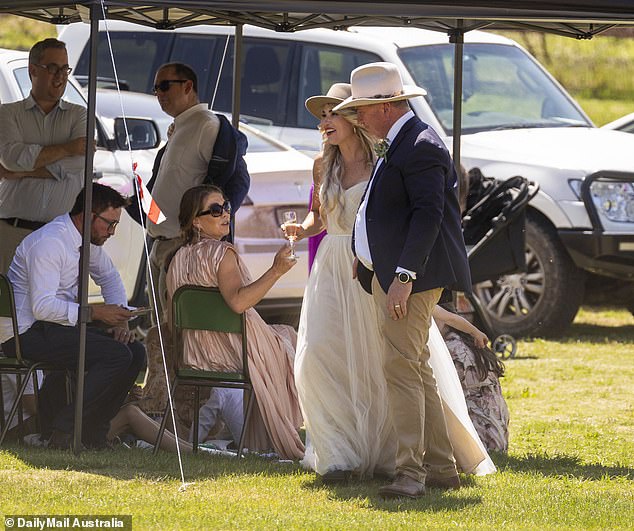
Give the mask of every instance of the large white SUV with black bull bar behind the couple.
[{"label": "large white SUV with black bull bar behind the couple", "polygon": [[[201,95],[214,108],[231,103],[232,28],[196,26],[158,31],[109,22],[120,77],[149,92],[157,67],[184,61],[201,74]],[[102,26],[103,30],[103,26]],[[89,27],[66,27],[70,61],[88,68]],[[223,57],[229,40],[227,57]],[[316,29],[275,33],[244,28],[241,119],[306,151],[319,149],[308,96],[371,61],[399,66],[405,83],[427,90],[414,111],[451,149],[454,47],[445,35],[416,28]],[[105,34],[98,74],[112,77]],[[572,321],[584,295],[585,273],[634,289],[634,138],[596,128],[575,101],[512,40],[469,32],[464,47],[462,165],[490,177],[520,175],[540,186],[527,210],[524,274],[480,283],[477,293],[498,330],[557,334]]]}]

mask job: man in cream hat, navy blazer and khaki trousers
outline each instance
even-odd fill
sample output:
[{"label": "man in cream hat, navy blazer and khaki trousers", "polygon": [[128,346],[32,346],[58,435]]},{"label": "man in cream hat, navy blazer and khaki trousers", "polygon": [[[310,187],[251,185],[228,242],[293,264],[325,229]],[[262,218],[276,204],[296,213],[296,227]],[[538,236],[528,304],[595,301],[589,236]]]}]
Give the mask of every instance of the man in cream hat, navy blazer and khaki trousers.
[{"label": "man in cream hat, navy blazer and khaki trousers", "polygon": [[460,487],[427,348],[442,290],[471,290],[457,176],[441,139],[407,103],[423,89],[404,87],[391,63],[353,70],[351,85],[352,96],[333,110],[356,108],[359,123],[382,139],[353,235],[353,274],[371,290],[388,343],[396,477],[379,493],[418,498],[425,485]]}]

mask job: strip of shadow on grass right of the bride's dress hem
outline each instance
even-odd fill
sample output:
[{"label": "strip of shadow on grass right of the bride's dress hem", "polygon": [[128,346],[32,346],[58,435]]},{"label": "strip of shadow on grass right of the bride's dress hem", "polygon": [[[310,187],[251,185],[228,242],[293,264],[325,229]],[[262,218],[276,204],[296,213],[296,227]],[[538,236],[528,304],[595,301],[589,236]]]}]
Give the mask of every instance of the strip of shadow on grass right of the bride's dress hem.
[{"label": "strip of shadow on grass right of the bride's dress hem", "polygon": [[523,457],[496,453],[495,464],[504,472],[536,472],[543,476],[569,476],[587,480],[624,478],[634,480],[634,469],[627,466],[605,466],[600,463],[583,463],[581,459],[569,455],[549,456],[529,454]]}]

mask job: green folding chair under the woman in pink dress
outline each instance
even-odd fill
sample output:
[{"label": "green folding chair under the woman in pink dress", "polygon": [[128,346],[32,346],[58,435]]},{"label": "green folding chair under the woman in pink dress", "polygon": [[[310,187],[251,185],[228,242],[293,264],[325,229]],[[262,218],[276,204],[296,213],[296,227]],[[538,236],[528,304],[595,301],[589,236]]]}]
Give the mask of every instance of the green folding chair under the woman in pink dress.
[{"label": "green folding chair under the woman in pink dress", "polygon": [[[244,449],[247,425],[253,409],[255,394],[249,377],[249,363],[247,359],[247,329],[244,313],[235,313],[223,299],[218,288],[202,286],[181,286],[172,298],[172,330],[174,332],[174,349],[176,359],[183,359],[183,330],[210,330],[240,334],[242,339],[242,371],[216,372],[198,369],[176,369],[172,383],[172,397],[178,386],[192,386],[195,389],[194,400],[194,441],[193,451],[198,451],[198,418],[200,409],[201,387],[226,387],[243,389],[246,403],[244,423],[238,443],[238,457]],[[154,445],[154,453],[158,452],[163,438],[163,432],[170,414],[170,403],[165,407],[165,414]],[[174,412],[171,412],[172,416]]]}]

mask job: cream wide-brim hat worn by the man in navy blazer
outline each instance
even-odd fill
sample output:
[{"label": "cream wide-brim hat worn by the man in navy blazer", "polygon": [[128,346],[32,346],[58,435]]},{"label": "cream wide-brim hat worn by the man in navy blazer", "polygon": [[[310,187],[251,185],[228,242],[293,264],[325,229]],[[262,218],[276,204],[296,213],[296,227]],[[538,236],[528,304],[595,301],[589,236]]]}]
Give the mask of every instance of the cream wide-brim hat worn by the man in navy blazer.
[{"label": "cream wide-brim hat worn by the man in navy blazer", "polygon": [[427,94],[421,87],[403,85],[401,74],[392,63],[369,63],[355,68],[350,74],[350,85],[351,95],[333,111],[406,100]]}]

